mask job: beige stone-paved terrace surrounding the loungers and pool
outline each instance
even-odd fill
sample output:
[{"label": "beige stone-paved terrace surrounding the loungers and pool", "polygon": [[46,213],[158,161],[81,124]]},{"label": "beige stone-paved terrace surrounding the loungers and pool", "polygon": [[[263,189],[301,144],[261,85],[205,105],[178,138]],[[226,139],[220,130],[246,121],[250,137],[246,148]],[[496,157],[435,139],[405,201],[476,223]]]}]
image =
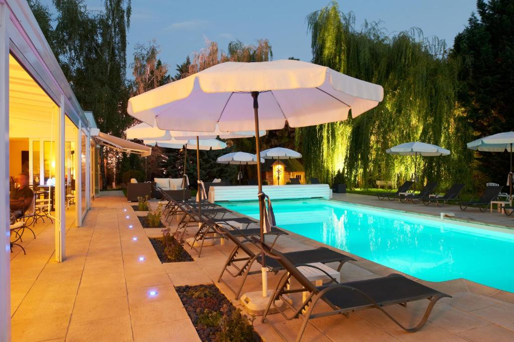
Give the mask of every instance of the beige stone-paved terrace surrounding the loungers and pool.
[{"label": "beige stone-paved terrace surrounding the loungers and pool", "polygon": [[[346,195],[344,199],[357,201],[359,197],[354,196]],[[43,235],[48,238],[43,239]],[[224,285],[215,282],[232,248],[229,243],[206,247],[201,258],[191,251],[195,259],[192,262],[161,264],[147,239],[147,236],[159,236],[160,230],[143,229],[121,192],[102,192],[88,212],[84,227],[68,229],[68,259],[62,264],[53,262],[51,235],[43,228],[41,238],[38,236],[27,246],[27,256],[17,254],[12,260],[12,339],[15,342],[199,341],[173,286],[214,282],[228,298],[233,298]],[[277,248],[288,251],[319,245],[291,235],[281,237]],[[144,261],[138,260],[141,256]],[[359,261],[343,266],[342,281],[393,272],[356,259]],[[277,277],[270,277],[270,286],[276,280]],[[303,341],[514,340],[513,294],[499,296],[498,291],[477,294],[462,280],[428,284],[453,298],[440,300],[425,328],[417,333],[402,331],[378,310],[370,309],[351,314],[350,318],[332,316],[312,320]],[[259,288],[260,275],[251,276],[245,291]],[[150,297],[151,290],[157,291],[157,296]],[[420,317],[424,305],[425,301],[414,302],[407,308],[398,305],[387,310],[402,322],[412,323],[412,315]],[[294,340],[300,320],[284,321],[278,315],[270,318],[289,340]],[[254,324],[265,340],[280,340],[259,319]]]}]

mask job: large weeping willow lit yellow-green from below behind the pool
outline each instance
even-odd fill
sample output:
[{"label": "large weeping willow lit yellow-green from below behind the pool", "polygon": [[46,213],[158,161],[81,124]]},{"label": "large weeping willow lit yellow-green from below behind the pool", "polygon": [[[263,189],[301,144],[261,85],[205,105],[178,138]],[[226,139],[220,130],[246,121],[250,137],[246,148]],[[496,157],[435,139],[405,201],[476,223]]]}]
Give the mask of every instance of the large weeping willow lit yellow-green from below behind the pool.
[{"label": "large weeping willow lit yellow-green from below behind the pool", "polygon": [[367,188],[376,179],[401,182],[411,177],[414,158],[386,149],[422,141],[452,154],[421,158],[420,179],[440,179],[443,187],[471,179],[470,130],[456,104],[455,67],[444,41],[425,39],[419,29],[389,36],[365,23],[356,30],[353,14],[336,3],[309,14],[307,24],[314,63],[384,88],[383,102],[359,117],[297,129],[307,177],[331,184],[344,170],[353,187]]}]

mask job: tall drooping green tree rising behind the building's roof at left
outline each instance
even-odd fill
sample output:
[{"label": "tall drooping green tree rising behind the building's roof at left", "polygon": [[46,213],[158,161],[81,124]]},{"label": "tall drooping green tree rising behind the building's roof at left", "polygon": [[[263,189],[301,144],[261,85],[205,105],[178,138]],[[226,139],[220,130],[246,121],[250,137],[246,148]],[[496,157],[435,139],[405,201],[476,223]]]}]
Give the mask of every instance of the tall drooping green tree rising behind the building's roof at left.
[{"label": "tall drooping green tree rising behind the building's roof at left", "polygon": [[[131,0],[105,0],[99,12],[88,11],[83,0],[53,0],[57,12],[54,29],[48,9],[42,8],[39,0],[29,5],[52,42],[53,52],[82,108],[93,112],[102,132],[122,136],[132,122],[126,114],[130,87],[125,75]],[[103,149],[100,157],[105,187],[111,170],[106,158],[117,157]]]}]

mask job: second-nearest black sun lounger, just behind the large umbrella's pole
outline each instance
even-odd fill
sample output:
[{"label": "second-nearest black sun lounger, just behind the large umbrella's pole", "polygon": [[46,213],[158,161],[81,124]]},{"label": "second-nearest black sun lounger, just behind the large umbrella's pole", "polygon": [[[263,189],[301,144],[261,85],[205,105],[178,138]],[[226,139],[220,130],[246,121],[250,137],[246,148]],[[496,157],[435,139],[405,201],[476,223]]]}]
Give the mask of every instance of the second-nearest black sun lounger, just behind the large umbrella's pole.
[{"label": "second-nearest black sun lounger, just behind the large umbrella's pole", "polygon": [[[252,271],[251,267],[253,263],[256,261],[261,263],[261,251],[254,252],[250,249],[250,245],[254,245],[255,242],[250,239],[244,239],[240,241],[235,236],[232,235],[231,231],[225,228],[219,228],[218,233],[224,235],[228,240],[232,241],[235,246],[229,254],[225,265],[223,266],[223,270],[218,277],[218,282],[223,282],[228,286],[228,288],[235,294],[235,298],[238,299],[241,295],[241,291],[243,290],[243,285],[245,284],[246,278],[252,274],[259,274],[261,270]],[[246,254],[241,255],[241,254]],[[285,255],[292,260],[293,264],[305,264],[305,263],[315,263],[321,262],[323,264],[329,262],[338,262],[339,265],[337,270],[340,271],[341,267],[346,261],[356,261],[352,257],[348,257],[344,254],[341,254],[335,250],[328,249],[326,247],[319,247],[316,249],[307,249],[307,250],[299,250],[285,253]],[[278,273],[284,269],[283,265],[280,264],[277,260],[265,256],[265,263],[268,271],[273,273]],[[231,267],[233,270],[231,270]],[[223,279],[223,275],[227,273],[232,278],[242,277],[241,284],[237,289],[232,289],[230,284]]]}]

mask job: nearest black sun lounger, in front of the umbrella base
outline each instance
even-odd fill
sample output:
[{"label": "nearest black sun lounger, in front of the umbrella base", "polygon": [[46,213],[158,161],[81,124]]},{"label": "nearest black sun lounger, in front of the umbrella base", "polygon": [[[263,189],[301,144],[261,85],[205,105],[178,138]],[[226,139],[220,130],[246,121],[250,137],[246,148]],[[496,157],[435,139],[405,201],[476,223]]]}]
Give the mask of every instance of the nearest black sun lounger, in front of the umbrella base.
[{"label": "nearest black sun lounger, in front of the umbrella base", "polygon": [[[326,274],[327,278],[331,278],[334,283],[316,286],[298,270],[297,267],[299,265],[296,264],[287,254],[271,250],[266,245],[263,247],[266,256],[280,264],[287,272],[284,273],[277,284],[273,295],[270,296],[267,308],[262,317],[262,322],[268,322],[270,326],[282,336],[280,331],[273,326],[271,321],[273,318],[268,318],[268,313],[271,307],[280,312],[287,320],[302,318],[303,323],[297,334],[297,342],[302,339],[303,333],[310,319],[339,314],[348,316],[348,314],[352,312],[371,308],[380,310],[403,330],[416,332],[427,322],[434,304],[443,297],[451,297],[398,274],[390,274],[387,277],[344,283],[337,283],[333,277]],[[314,265],[303,264],[302,266],[317,268],[317,270],[326,273]],[[292,288],[291,286],[287,286],[291,283],[291,278],[296,279],[300,284],[300,287]],[[305,291],[307,292],[305,300],[302,300],[301,304],[296,305],[296,307],[293,305],[294,302],[290,302],[290,300],[286,298],[286,296],[291,296],[292,294]],[[276,305],[276,300],[278,299],[282,300],[285,304],[285,308],[281,308],[279,305]],[[430,302],[427,305],[423,318],[421,318],[420,322],[412,328],[403,326],[390,313],[383,309],[383,307],[387,305],[394,304],[406,306],[410,301],[421,299],[428,299]],[[327,303],[331,309],[328,311],[317,310],[319,308],[316,308],[316,304],[320,300]],[[344,327],[341,327],[341,329],[344,329]]]}]

